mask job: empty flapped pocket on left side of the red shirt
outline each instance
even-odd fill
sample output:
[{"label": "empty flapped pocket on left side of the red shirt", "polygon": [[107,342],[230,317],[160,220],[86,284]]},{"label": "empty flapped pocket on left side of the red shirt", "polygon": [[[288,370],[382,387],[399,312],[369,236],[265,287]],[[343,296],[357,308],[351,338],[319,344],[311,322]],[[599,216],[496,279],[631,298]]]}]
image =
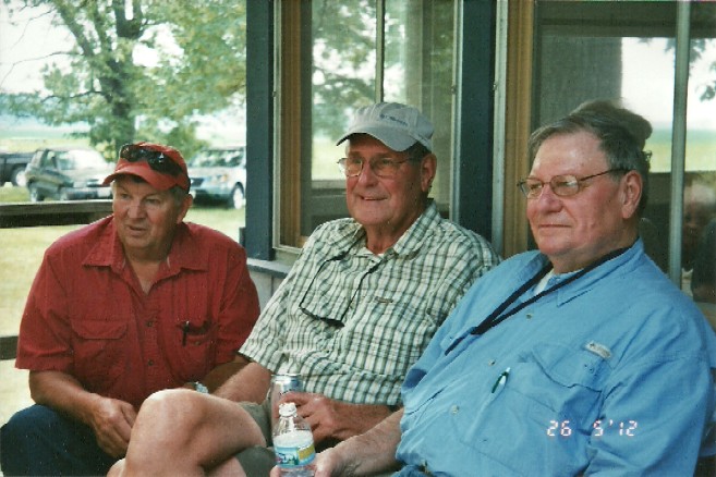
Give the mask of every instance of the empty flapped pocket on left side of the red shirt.
[{"label": "empty flapped pocket on left side of the red shirt", "polygon": [[123,321],[73,320],[74,375],[89,391],[105,389],[125,367]]}]

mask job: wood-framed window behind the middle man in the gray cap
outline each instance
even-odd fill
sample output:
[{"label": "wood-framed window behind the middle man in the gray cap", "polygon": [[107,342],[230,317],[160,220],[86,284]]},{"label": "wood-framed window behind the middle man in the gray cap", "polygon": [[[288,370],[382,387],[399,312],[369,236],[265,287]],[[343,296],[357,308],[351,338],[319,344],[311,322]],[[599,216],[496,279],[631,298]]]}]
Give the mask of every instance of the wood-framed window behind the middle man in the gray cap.
[{"label": "wood-framed window behind the middle man in the gray cap", "polygon": [[348,217],[335,142],[353,111],[376,101],[420,108],[435,124],[432,196],[450,212],[454,96],[453,0],[280,2],[277,28],[277,247],[300,247],[320,223]]}]

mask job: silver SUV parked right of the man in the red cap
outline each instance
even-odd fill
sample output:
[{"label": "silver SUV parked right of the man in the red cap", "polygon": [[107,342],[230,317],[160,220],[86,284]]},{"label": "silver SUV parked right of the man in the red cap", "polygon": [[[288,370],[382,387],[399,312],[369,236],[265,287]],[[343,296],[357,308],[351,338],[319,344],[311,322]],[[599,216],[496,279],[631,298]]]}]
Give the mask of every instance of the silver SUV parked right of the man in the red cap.
[{"label": "silver SUV parked right of the man in the red cap", "polygon": [[187,164],[192,194],[197,199],[221,200],[240,209],[245,204],[246,148],[214,147],[196,154]]}]

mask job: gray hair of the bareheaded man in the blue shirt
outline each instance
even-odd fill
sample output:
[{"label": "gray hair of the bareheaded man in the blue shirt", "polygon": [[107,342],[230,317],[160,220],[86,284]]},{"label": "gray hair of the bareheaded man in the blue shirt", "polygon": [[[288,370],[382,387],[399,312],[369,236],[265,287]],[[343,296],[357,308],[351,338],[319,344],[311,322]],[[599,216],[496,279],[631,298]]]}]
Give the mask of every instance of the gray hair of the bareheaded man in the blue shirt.
[{"label": "gray hair of the bareheaded man in the blue shirt", "polygon": [[[562,119],[536,130],[527,143],[530,162],[549,137],[558,134],[574,134],[586,131],[599,139],[599,149],[607,158],[609,169],[636,171],[642,178],[642,197],[638,213],[646,207],[648,169],[652,154],[644,151],[646,139],[652,135],[652,125],[641,115],[621,107],[617,101],[588,101]],[[623,173],[623,172],[622,172]],[[618,174],[618,172],[614,173]]]}]

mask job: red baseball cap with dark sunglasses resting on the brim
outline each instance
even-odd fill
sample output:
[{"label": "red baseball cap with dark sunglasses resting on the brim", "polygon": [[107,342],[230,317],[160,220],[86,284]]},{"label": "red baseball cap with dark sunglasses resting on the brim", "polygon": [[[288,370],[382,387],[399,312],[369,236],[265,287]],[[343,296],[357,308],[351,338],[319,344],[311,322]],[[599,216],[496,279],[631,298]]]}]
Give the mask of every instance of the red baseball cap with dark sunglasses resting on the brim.
[{"label": "red baseball cap with dark sunglasses resting on the brim", "polygon": [[114,172],[105,179],[104,185],[120,175],[130,174],[144,179],[158,191],[178,185],[189,192],[186,162],[173,147],[145,142],[125,144],[119,156]]}]

